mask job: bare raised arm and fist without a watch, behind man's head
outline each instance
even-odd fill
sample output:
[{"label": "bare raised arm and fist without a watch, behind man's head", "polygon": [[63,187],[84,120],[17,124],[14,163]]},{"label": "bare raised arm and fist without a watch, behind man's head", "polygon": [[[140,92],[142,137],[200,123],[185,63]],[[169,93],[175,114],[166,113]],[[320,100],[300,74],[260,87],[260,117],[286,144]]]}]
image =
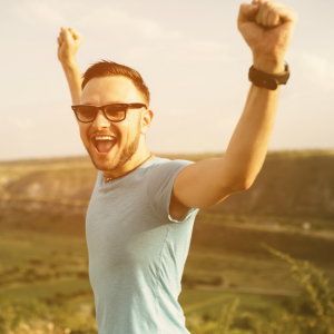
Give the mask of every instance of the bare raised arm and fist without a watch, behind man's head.
[{"label": "bare raised arm and fist without a watch, behind man's head", "polygon": [[61,27],[58,37],[58,59],[62,66],[72,104],[80,104],[81,72],[76,61],[76,53],[82,42],[82,36],[76,30]]}]

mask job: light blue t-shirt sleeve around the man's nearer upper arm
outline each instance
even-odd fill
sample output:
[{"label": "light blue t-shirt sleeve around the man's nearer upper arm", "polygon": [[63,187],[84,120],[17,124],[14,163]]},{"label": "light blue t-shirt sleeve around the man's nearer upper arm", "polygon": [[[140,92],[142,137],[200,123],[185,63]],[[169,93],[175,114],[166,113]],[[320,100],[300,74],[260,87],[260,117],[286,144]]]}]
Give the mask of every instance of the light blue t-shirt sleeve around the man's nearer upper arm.
[{"label": "light blue t-shirt sleeve around the man's nearer upper arm", "polygon": [[196,215],[198,209],[191,208],[183,220],[173,219],[169,215],[170,196],[177,175],[186,166],[194,164],[187,160],[168,160],[151,166],[147,179],[147,196],[151,209],[164,220],[183,223]]}]

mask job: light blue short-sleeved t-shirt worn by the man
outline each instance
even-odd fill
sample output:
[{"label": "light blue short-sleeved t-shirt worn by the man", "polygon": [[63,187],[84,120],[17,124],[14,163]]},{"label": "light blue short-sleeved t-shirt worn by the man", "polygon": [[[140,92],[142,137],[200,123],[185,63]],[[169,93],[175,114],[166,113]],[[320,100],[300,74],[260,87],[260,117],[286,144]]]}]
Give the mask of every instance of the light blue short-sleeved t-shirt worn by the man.
[{"label": "light blue short-sleeved t-shirt worn by the man", "polygon": [[186,160],[154,158],[105,184],[98,173],[86,219],[99,334],[185,334],[180,279],[198,209],[169,216]]}]

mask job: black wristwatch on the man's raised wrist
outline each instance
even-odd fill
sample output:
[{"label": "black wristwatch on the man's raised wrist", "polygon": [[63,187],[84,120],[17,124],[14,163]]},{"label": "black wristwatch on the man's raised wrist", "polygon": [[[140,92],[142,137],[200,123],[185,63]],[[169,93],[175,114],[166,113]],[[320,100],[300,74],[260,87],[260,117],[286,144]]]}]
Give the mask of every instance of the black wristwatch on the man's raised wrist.
[{"label": "black wristwatch on the man's raised wrist", "polygon": [[257,87],[263,87],[269,90],[277,89],[278,85],[286,85],[289,78],[289,68],[286,61],[284,61],[284,72],[277,75],[268,75],[256,70],[254,66],[249,68],[248,79]]}]

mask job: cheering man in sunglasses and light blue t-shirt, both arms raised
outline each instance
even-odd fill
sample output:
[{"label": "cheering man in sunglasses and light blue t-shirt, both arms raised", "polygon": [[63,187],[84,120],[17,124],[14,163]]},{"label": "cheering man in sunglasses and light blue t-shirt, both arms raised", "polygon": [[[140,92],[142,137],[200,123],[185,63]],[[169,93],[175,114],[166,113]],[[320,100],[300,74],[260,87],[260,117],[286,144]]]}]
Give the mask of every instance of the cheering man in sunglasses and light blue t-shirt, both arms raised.
[{"label": "cheering man in sunglasses and light blue t-shirt, both arms raised", "polygon": [[188,333],[177,302],[199,208],[250,187],[272,135],[285,52],[297,14],[279,3],[240,6],[238,29],[253,51],[253,81],[224,158],[154,157],[145,134],[154,112],[140,75],[100,61],[84,80],[75,60],[82,37],[61,28],[63,67],[82,143],[98,171],[87,213],[89,276],[100,334]]}]

